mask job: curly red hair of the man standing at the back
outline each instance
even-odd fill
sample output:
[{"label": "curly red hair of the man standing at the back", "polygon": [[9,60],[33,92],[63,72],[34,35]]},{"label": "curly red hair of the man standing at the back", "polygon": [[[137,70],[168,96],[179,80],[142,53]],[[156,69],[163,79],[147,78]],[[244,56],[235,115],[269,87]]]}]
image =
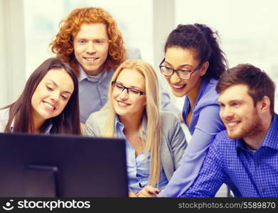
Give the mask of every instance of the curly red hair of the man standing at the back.
[{"label": "curly red hair of the man standing at the back", "polygon": [[79,63],[75,58],[73,40],[82,23],[105,23],[109,38],[109,50],[104,67],[106,70],[117,68],[126,58],[124,40],[114,18],[101,8],[86,7],[73,10],[67,18],[60,22],[60,31],[55,40],[50,43],[52,52],[73,67],[75,74],[79,76]]}]

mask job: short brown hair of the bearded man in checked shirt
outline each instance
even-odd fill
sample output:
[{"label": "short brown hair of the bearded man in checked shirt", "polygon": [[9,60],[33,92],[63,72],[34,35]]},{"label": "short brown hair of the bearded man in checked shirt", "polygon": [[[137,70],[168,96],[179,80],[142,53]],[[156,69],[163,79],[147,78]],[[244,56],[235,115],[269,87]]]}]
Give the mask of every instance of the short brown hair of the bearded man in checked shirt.
[{"label": "short brown hair of the bearded man in checked shirt", "polygon": [[237,65],[223,72],[216,85],[216,92],[221,93],[235,84],[247,85],[248,94],[252,97],[254,106],[264,96],[269,97],[270,113],[274,115],[275,84],[267,73],[250,64]]}]

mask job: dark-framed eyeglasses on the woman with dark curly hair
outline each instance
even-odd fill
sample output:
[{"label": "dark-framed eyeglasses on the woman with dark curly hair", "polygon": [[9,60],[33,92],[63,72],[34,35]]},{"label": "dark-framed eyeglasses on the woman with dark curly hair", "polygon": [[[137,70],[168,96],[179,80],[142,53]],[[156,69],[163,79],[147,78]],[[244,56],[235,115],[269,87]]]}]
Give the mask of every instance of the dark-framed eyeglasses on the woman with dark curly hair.
[{"label": "dark-framed eyeglasses on the woman with dark curly hair", "polygon": [[198,67],[196,67],[196,69],[194,69],[193,71],[189,71],[189,70],[175,70],[172,69],[171,67],[166,67],[164,65],[162,65],[162,63],[165,61],[164,60],[161,61],[160,65],[159,65],[159,69],[161,71],[161,73],[165,76],[171,76],[173,75],[173,72],[176,72],[176,74],[178,75],[179,78],[187,80],[191,78],[191,75],[194,72],[197,72],[198,70],[201,69],[201,67],[203,66],[203,63],[201,63],[200,65],[198,65]]}]

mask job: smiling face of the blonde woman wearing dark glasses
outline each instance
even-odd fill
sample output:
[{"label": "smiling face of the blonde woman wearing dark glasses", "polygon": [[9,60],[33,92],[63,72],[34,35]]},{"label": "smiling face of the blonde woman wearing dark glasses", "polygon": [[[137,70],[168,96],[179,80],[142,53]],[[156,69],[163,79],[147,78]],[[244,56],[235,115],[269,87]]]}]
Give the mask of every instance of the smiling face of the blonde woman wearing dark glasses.
[{"label": "smiling face of the blonde woman wearing dark glasses", "polygon": [[[137,70],[124,69],[119,73],[117,83],[124,87],[140,90],[146,92],[145,78]],[[112,104],[116,114],[121,116],[141,116],[146,107],[146,95],[127,93],[127,89],[120,91],[115,88],[112,90]]]}]

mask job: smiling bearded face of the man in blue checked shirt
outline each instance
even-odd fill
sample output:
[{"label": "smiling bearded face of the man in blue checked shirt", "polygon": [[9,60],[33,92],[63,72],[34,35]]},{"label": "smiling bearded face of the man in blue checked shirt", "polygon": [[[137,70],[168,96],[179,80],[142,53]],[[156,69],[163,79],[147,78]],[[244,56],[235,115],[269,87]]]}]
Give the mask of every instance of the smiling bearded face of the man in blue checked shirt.
[{"label": "smiling bearded face of the man in blue checked shirt", "polygon": [[262,132],[262,119],[247,92],[247,85],[236,84],[221,92],[218,98],[220,117],[230,138],[252,138]]}]

